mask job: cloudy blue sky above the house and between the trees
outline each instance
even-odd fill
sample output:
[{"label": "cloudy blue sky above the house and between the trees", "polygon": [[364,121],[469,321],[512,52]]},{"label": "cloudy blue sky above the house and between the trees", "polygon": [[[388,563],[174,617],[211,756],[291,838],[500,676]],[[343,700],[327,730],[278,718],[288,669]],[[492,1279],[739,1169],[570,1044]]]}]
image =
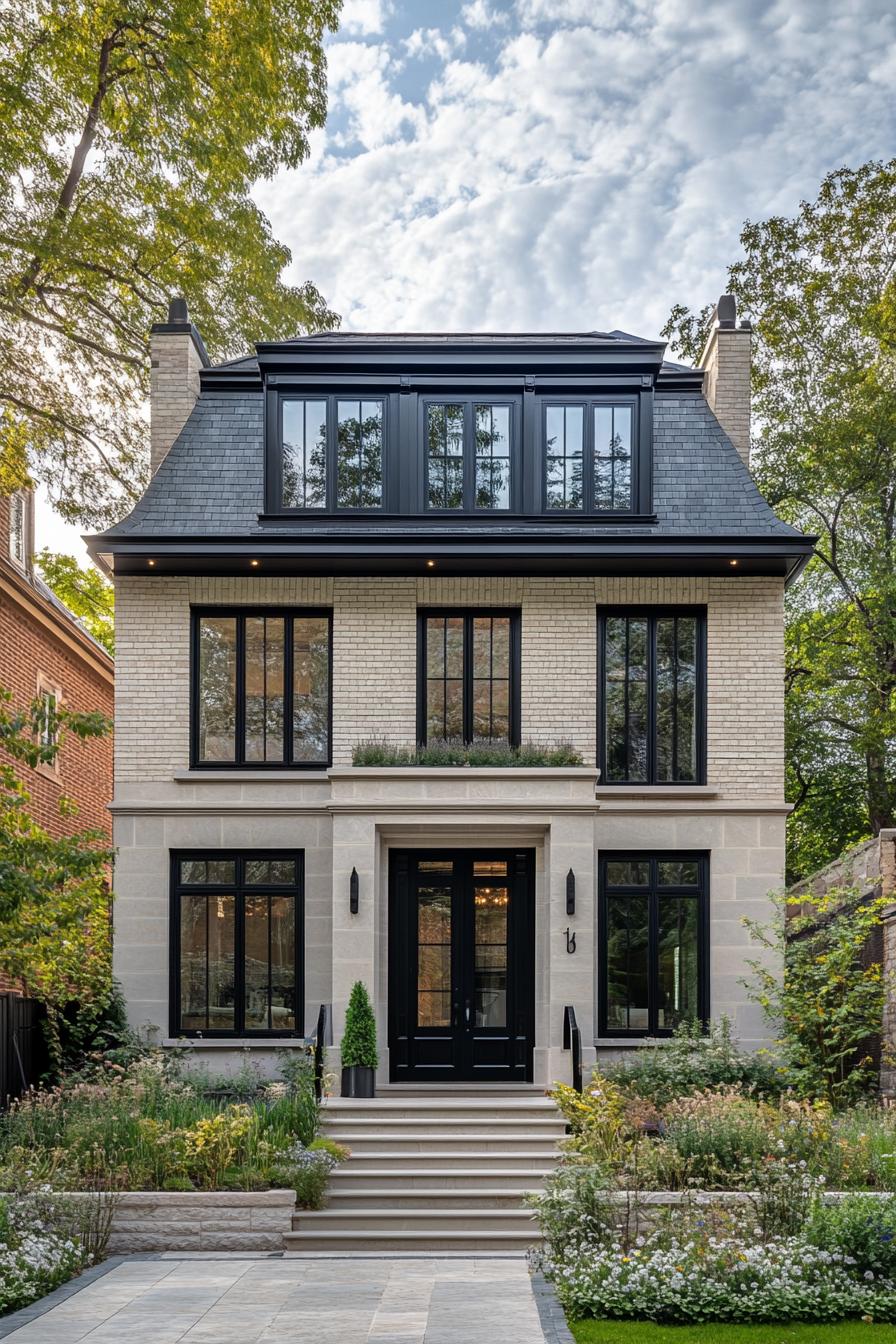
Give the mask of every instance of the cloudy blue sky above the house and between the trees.
[{"label": "cloudy blue sky above the house and between the trees", "polygon": [[353,331],[656,336],[744,219],[896,145],[891,0],[345,0],[328,51],[255,196]]}]

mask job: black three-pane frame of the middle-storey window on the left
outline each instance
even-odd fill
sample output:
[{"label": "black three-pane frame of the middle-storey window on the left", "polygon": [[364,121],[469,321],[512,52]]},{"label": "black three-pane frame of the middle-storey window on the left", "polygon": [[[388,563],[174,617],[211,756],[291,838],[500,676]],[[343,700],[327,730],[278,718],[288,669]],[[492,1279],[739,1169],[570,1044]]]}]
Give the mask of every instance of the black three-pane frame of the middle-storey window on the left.
[{"label": "black three-pane frame of the middle-storey window on the left", "polygon": [[[199,624],[203,617],[236,618],[236,723],[235,759],[203,761],[199,755]],[[246,618],[282,617],[283,637],[283,758],[282,761],[246,759]],[[293,622],[296,618],[326,620],[328,640],[328,707],[326,758],[293,761]],[[333,762],[333,612],[321,606],[191,606],[189,609],[189,769],[191,770],[326,770]]]}]

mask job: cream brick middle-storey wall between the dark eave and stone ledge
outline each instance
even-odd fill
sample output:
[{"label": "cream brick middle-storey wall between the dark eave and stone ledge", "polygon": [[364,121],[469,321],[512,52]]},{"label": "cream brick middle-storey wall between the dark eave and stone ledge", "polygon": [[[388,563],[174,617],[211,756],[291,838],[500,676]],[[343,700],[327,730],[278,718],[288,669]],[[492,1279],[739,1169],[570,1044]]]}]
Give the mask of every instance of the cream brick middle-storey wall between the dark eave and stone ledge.
[{"label": "cream brick middle-storey wall between the dark eave and stone ledge", "polygon": [[355,742],[416,734],[416,609],[519,606],[523,737],[570,741],[595,761],[596,607],[708,607],[709,782],[783,797],[780,579],[124,578],[117,583],[117,780],[169,781],[189,759],[189,605],[332,606],[333,761]]}]

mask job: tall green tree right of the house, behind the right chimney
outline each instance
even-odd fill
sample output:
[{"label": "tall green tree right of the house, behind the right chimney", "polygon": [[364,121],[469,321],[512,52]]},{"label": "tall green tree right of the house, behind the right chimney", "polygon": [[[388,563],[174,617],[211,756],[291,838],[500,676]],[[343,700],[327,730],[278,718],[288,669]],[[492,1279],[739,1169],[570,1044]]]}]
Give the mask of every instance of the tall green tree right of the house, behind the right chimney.
[{"label": "tall green tree right of the house, behind the right chimney", "polygon": [[[740,241],[728,288],[754,323],[754,470],[818,535],[787,607],[799,876],[896,821],[896,160],[830,173]],[[664,335],[695,358],[711,312],[677,305]]]}]

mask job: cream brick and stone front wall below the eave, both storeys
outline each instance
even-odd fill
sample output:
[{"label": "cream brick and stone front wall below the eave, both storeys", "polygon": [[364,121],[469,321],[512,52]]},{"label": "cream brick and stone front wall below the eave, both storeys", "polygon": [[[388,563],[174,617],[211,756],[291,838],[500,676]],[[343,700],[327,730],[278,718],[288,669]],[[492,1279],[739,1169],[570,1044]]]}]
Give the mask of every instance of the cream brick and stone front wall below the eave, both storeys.
[{"label": "cream brick and stone front wall below the eave, both storeys", "polygon": [[[191,605],[333,610],[333,767],[309,773],[189,771]],[[595,770],[596,610],[705,603],[708,781],[602,789]],[[596,860],[600,849],[711,855],[711,1009],[742,1040],[764,1028],[740,984],[748,935],[780,886],[783,581],[774,578],[120,578],[116,711],[116,973],[138,1028],[168,1032],[169,853],[187,847],[305,852],[305,1028],[333,1003],[336,1031],[355,978],[373,986],[387,1077],[387,872],[395,845],[523,845],[536,851],[536,1079],[566,1077],[563,1005],[595,1042]],[[523,737],[570,741],[572,770],[355,770],[355,742],[411,745],[420,606],[521,612]],[[595,788],[596,786],[596,788]],[[576,915],[566,915],[575,870]],[[348,878],[360,910],[348,910]],[[578,953],[567,956],[567,926]],[[337,1036],[339,1039],[339,1036]],[[600,1042],[602,1051],[618,1043]],[[214,1066],[235,1058],[200,1048]],[[270,1048],[259,1056],[271,1062]],[[594,1058],[594,1055],[591,1056]]]}]

